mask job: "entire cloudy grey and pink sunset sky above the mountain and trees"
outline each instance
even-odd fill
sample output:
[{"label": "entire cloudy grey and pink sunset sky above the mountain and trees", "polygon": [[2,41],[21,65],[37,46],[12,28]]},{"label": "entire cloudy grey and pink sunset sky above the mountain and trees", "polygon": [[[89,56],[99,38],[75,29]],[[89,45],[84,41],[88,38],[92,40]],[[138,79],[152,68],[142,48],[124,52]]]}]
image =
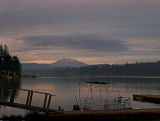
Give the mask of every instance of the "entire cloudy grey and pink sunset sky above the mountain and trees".
[{"label": "entire cloudy grey and pink sunset sky above the mountain and trees", "polygon": [[160,0],[0,0],[0,42],[22,62],[160,60]]}]

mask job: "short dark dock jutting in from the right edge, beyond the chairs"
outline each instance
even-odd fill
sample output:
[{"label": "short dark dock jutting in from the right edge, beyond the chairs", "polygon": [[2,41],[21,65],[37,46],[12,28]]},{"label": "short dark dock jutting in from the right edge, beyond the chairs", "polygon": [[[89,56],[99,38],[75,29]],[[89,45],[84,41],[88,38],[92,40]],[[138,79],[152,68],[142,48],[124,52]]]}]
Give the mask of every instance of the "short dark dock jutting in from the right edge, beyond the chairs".
[{"label": "short dark dock jutting in from the right edge, beyond the chairs", "polygon": [[133,95],[133,100],[160,104],[160,95],[149,95],[149,94]]}]

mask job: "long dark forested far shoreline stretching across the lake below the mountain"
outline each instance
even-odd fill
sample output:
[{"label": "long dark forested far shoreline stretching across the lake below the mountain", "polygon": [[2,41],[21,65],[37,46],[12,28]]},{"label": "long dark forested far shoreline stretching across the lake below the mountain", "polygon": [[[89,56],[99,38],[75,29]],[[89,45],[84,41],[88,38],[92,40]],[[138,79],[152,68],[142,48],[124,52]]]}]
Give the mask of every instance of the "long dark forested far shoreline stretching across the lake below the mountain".
[{"label": "long dark forested far shoreline stretching across the lake below the mountain", "polygon": [[160,61],[115,65],[101,64],[80,68],[66,67],[37,71],[28,70],[27,72],[40,76],[160,76]]}]

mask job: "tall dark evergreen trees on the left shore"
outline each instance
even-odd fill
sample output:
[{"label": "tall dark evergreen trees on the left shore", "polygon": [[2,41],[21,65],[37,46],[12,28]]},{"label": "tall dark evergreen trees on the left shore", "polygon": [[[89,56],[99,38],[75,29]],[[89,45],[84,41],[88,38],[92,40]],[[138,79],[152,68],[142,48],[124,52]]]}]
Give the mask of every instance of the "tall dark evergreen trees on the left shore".
[{"label": "tall dark evergreen trees on the left shore", "polygon": [[9,72],[11,75],[21,75],[21,63],[17,56],[12,56],[9,53],[6,45],[0,44],[0,74]]}]

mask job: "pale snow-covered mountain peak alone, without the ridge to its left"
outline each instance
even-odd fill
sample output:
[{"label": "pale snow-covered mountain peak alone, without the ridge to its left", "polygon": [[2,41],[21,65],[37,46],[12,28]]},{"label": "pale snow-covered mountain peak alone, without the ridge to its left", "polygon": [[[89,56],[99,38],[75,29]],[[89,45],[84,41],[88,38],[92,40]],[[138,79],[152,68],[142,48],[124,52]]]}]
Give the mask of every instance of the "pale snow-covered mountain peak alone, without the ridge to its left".
[{"label": "pale snow-covered mountain peak alone, without the ridge to its left", "polygon": [[52,66],[54,67],[84,67],[87,66],[87,64],[77,61],[75,59],[62,59],[58,60],[55,63],[52,63]]}]

